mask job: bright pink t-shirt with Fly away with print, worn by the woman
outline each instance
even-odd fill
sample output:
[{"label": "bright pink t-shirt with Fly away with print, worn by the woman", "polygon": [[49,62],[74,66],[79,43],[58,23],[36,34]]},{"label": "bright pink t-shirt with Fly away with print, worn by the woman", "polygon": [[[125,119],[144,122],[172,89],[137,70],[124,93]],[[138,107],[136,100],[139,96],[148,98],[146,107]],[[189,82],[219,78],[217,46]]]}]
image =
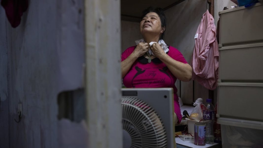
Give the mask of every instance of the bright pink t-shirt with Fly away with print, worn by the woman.
[{"label": "bright pink t-shirt with Fly away with print, worn by the woman", "polygon": [[[122,53],[122,61],[125,60],[135,49],[136,46],[129,47]],[[183,55],[176,48],[169,46],[167,53],[176,61],[187,63]],[[145,57],[139,57],[131,66],[130,70],[123,77],[123,84],[127,88],[160,88],[171,87],[174,89],[174,112],[178,117],[178,123],[181,122],[182,115],[175,87],[176,77],[170,72],[167,66],[159,59],[152,59],[147,62]]]}]

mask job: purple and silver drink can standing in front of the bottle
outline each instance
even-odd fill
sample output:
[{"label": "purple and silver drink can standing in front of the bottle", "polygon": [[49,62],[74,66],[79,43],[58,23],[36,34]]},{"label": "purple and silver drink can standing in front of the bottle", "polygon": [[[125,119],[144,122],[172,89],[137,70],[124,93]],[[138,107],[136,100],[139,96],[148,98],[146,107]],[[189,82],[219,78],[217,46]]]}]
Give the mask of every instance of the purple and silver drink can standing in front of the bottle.
[{"label": "purple and silver drink can standing in front of the bottle", "polygon": [[205,145],[205,123],[195,123],[194,126],[194,144]]}]

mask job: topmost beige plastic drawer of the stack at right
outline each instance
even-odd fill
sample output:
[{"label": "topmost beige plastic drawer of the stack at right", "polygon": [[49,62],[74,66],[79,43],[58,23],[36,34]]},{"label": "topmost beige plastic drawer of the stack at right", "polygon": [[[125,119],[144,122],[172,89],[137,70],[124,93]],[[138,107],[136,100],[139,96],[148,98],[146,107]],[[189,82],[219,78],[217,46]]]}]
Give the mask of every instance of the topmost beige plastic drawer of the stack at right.
[{"label": "topmost beige plastic drawer of the stack at right", "polygon": [[220,11],[219,47],[263,41],[263,3]]}]

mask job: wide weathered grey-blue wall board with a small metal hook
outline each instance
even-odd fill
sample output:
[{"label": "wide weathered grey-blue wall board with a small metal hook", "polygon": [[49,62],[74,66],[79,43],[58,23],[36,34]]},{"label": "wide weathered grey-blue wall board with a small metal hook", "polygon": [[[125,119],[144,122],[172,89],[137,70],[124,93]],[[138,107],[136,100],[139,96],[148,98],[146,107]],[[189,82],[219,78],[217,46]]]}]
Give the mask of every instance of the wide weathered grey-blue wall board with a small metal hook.
[{"label": "wide weathered grey-blue wall board with a small metal hook", "polygon": [[[58,147],[56,5],[30,1],[21,24],[7,24],[9,147]],[[22,103],[19,123],[17,109]]]}]

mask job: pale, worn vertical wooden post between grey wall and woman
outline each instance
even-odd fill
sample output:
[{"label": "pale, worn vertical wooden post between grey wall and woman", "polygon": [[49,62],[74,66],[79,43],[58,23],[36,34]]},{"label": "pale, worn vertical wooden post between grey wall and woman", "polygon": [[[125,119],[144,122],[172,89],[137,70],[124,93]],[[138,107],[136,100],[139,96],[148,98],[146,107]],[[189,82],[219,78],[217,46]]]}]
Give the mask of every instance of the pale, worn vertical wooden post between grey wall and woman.
[{"label": "pale, worn vertical wooden post between grey wall and woman", "polygon": [[122,147],[120,1],[85,0],[88,148]]}]

